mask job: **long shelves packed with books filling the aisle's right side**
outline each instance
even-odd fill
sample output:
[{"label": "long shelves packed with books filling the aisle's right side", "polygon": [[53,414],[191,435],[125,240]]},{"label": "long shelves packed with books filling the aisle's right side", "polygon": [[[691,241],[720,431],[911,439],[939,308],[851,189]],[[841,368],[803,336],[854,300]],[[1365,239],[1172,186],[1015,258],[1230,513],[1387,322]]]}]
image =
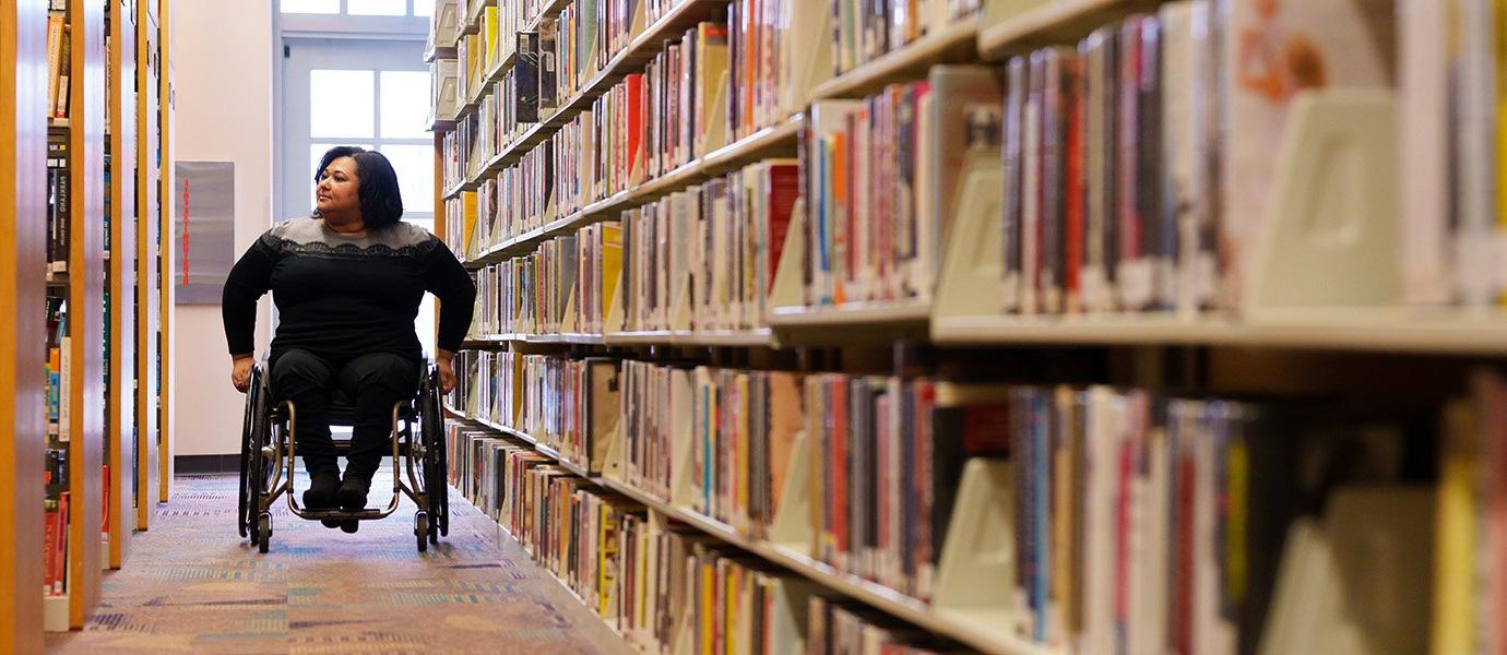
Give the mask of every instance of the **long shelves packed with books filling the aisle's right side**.
[{"label": "long shelves packed with books filling the aisle's right side", "polygon": [[1507,643],[1507,14],[879,5],[458,5],[455,489],[643,652]]}]

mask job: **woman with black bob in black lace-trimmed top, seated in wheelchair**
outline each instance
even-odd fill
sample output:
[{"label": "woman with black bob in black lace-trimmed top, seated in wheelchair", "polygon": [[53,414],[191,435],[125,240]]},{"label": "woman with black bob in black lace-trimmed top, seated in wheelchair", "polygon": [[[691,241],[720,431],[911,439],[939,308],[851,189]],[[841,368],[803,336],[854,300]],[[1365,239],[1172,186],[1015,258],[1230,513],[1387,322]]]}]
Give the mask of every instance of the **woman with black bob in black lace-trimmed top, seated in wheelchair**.
[{"label": "woman with black bob in black lace-trimmed top, seated in wheelchair", "polygon": [[[390,447],[392,405],[413,398],[419,381],[423,355],[413,321],[423,292],[440,298],[437,364],[449,391],[476,286],[440,239],[399,221],[398,175],[381,154],[333,148],[313,179],[313,215],[267,230],[225,282],[231,381],[241,391],[250,385],[256,300],[271,291],[279,324],[270,379],[274,401],[292,401],[298,411],[294,440],[310,477],[303,504],[362,509]],[[336,385],[356,405],[344,480],[327,417]]]}]

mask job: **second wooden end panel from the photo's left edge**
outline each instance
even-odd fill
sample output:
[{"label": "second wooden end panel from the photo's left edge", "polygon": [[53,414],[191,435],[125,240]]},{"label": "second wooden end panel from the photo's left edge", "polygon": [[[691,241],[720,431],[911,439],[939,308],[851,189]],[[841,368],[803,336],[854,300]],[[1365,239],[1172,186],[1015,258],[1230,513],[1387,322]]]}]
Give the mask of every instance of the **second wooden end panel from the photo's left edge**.
[{"label": "second wooden end panel from the photo's left edge", "polygon": [[68,331],[72,348],[68,444],[68,625],[83,628],[99,604],[104,510],[104,5],[69,0]]}]

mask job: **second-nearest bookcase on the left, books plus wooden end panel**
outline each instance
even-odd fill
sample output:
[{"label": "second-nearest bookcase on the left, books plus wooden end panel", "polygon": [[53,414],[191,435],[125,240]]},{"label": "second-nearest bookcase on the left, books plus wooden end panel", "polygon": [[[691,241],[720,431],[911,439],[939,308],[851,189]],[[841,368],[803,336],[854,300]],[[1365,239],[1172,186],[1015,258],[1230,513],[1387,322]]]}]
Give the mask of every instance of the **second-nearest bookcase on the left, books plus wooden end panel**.
[{"label": "second-nearest bookcase on the left, books plus wooden end panel", "polygon": [[102,2],[54,0],[47,27],[48,437],[45,629],[83,628],[99,602],[104,524],[105,53]]}]

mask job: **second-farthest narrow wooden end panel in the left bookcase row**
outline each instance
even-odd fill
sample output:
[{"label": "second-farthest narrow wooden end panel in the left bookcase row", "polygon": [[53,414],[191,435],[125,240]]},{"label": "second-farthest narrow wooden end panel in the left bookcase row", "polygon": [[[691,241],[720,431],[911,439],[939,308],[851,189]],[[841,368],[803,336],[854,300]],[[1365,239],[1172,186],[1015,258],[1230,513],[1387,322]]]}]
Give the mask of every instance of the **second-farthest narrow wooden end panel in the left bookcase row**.
[{"label": "second-farthest narrow wooden end panel in the left bookcase row", "polygon": [[137,497],[136,527],[146,530],[157,506],[157,30],[148,18],[149,0],[136,2],[136,75],[142,92],[136,95],[136,260],[142,271],[137,280],[136,429],[137,429]]}]

